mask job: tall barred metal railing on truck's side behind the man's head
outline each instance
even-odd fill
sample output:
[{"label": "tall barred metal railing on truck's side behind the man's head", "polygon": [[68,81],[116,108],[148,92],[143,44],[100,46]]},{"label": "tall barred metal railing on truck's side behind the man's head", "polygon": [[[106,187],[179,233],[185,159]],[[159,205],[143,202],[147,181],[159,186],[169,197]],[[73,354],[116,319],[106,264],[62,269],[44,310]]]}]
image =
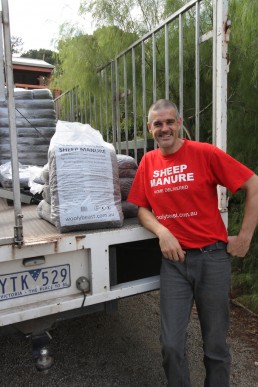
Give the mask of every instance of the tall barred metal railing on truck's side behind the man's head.
[{"label": "tall barred metal railing on truck's side behind the man's head", "polygon": [[[182,136],[185,129],[201,140],[200,118],[206,115],[211,141],[226,149],[226,53],[227,0],[191,0],[99,69],[93,91],[86,85],[59,96],[57,117],[89,123],[117,152],[137,160],[155,147],[146,128],[147,109],[159,98],[173,99],[184,119]],[[192,71],[186,73],[189,60]],[[202,90],[207,73],[210,82]]]}]

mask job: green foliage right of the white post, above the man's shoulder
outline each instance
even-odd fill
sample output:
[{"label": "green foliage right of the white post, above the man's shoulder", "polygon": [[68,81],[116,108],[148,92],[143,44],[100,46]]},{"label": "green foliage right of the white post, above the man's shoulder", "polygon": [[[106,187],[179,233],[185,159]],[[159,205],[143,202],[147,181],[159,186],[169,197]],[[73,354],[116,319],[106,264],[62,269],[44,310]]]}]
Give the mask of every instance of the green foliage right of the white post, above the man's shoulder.
[{"label": "green foliage right of the white post, above the man's shoulder", "polygon": [[231,0],[229,44],[228,151],[257,168],[258,142],[258,2]]}]

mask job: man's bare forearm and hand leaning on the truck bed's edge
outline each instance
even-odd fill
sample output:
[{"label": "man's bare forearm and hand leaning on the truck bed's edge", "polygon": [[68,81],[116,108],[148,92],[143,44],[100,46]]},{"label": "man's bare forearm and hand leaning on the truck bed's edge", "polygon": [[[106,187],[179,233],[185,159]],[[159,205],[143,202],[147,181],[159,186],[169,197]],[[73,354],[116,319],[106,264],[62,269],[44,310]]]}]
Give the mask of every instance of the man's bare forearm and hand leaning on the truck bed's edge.
[{"label": "man's bare forearm and hand leaning on the truck bed's edge", "polygon": [[138,218],[140,223],[159,238],[159,245],[165,258],[172,261],[184,261],[185,252],[182,250],[174,235],[153,215],[152,211],[139,207]]}]

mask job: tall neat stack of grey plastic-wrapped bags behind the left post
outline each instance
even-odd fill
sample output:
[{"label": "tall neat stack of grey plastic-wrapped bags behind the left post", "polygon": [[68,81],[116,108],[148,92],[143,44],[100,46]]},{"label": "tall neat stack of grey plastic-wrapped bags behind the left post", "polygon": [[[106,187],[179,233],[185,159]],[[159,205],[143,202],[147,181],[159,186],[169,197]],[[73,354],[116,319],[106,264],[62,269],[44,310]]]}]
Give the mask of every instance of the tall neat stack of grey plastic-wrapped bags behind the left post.
[{"label": "tall neat stack of grey plastic-wrapped bags behind the left post", "polygon": [[[49,141],[55,133],[56,113],[48,89],[14,89],[16,108],[17,151],[22,165],[43,166],[47,163]],[[9,111],[0,101],[0,164],[10,161]]]}]

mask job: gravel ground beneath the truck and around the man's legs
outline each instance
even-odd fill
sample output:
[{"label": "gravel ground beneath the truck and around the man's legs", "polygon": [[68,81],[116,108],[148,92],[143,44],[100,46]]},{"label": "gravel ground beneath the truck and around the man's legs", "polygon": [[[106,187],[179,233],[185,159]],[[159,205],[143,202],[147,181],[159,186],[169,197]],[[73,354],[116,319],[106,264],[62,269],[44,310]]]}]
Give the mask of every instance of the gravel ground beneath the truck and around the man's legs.
[{"label": "gravel ground beneath the truck and around the man's legs", "polygon": [[[258,386],[258,319],[232,310],[231,386]],[[54,365],[38,372],[31,342],[22,334],[0,336],[1,386],[162,387],[165,378],[159,345],[159,292],[119,302],[113,315],[97,313],[63,321],[51,332]],[[202,343],[193,310],[188,356],[192,387],[203,386]],[[219,387],[219,386],[218,386]]]}]

